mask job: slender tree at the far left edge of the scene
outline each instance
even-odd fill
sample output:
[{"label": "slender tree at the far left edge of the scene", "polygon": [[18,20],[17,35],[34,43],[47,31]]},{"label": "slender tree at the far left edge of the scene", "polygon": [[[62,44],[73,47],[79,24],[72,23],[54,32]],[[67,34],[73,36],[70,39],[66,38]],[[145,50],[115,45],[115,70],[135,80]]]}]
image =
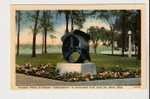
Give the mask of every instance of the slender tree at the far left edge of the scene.
[{"label": "slender tree at the far left edge of the scene", "polygon": [[19,56],[19,45],[20,45],[20,21],[21,21],[21,12],[16,12],[16,23],[17,23],[17,56]]}]

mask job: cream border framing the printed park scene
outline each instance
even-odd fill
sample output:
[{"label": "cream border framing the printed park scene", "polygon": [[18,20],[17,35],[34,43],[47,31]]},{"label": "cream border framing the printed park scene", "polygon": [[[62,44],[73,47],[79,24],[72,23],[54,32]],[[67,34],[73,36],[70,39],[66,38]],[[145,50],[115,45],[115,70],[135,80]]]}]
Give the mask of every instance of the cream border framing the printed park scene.
[{"label": "cream border framing the printed park scene", "polygon": [[[146,48],[144,36],[146,33],[146,29],[144,27],[145,22],[145,9],[144,4],[12,4],[10,7],[11,13],[11,48],[10,48],[10,60],[11,60],[11,89],[37,89],[42,88],[41,86],[35,86],[36,88],[28,86],[28,88],[18,88],[16,83],[16,68],[15,68],[15,31],[16,31],[16,23],[15,23],[15,12],[16,10],[81,10],[81,9],[99,9],[99,10],[123,10],[123,9],[139,9],[141,10],[141,85],[140,86],[122,86],[120,88],[115,87],[115,89],[143,89],[147,87],[147,68],[146,67],[146,52],[144,48]],[[22,86],[23,87],[23,86]],[[43,87],[42,89],[49,89],[48,87],[52,88],[53,86]],[[72,88],[71,86],[70,88]],[[82,86],[81,86],[82,87]],[[109,86],[108,86],[109,87]],[[54,88],[53,88],[54,89]],[[61,89],[61,87],[60,87]],[[74,88],[76,89],[76,88]],[[79,88],[77,88],[79,89]],[[82,88],[81,88],[82,89]],[[91,88],[90,88],[91,89]],[[93,89],[93,88],[92,88]],[[101,88],[103,89],[103,88]],[[111,89],[111,88],[104,88],[104,89]],[[114,88],[113,88],[114,90]]]}]

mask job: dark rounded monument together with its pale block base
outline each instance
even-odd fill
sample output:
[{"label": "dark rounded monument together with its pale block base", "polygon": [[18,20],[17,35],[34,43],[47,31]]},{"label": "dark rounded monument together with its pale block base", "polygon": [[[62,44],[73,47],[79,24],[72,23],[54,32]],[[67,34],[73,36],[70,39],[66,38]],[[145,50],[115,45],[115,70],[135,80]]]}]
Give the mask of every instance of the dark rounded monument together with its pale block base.
[{"label": "dark rounded monument together with its pale block base", "polygon": [[[78,72],[85,74],[96,74],[96,66],[91,63],[89,55],[90,36],[80,30],[65,33],[62,37],[62,54],[68,63],[58,63],[57,69],[60,74]],[[85,61],[88,60],[88,63]]]}]

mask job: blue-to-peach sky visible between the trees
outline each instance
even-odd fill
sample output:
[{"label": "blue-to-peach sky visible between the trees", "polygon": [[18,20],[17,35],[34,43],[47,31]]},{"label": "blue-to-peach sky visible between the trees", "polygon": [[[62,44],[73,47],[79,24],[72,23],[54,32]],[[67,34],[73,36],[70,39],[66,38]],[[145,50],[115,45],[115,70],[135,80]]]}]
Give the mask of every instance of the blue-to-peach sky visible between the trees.
[{"label": "blue-to-peach sky visible between the trees", "polygon": [[[28,11],[29,12],[29,11]],[[30,11],[31,12],[31,11]],[[22,13],[26,13],[25,11],[22,11]],[[30,14],[30,13],[29,13]],[[64,15],[57,15],[55,12],[53,15],[53,24],[54,24],[54,32],[49,32],[47,37],[47,43],[48,44],[61,44],[61,36],[64,35],[65,31],[65,17]],[[33,22],[31,21],[31,18],[29,15],[22,14],[21,16],[21,30],[20,30],[20,44],[32,44],[32,30],[31,26],[33,26]],[[86,32],[87,29],[90,26],[98,26],[98,27],[105,27],[106,29],[109,29],[108,24],[104,23],[101,20],[97,20],[93,17],[86,18],[86,21],[83,24],[82,31]],[[71,28],[71,25],[69,24],[69,29]],[[42,44],[42,33],[37,34],[36,43]],[[51,39],[49,35],[55,35],[57,38]]]}]

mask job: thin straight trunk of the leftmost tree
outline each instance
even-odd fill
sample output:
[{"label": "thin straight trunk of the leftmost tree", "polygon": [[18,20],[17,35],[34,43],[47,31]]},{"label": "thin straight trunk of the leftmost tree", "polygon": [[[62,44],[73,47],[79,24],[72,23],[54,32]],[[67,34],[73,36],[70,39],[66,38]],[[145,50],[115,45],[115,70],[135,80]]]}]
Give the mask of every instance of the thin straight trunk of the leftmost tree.
[{"label": "thin straight trunk of the leftmost tree", "polygon": [[19,45],[20,45],[20,11],[18,11],[18,33],[17,33],[17,56],[19,56]]}]

